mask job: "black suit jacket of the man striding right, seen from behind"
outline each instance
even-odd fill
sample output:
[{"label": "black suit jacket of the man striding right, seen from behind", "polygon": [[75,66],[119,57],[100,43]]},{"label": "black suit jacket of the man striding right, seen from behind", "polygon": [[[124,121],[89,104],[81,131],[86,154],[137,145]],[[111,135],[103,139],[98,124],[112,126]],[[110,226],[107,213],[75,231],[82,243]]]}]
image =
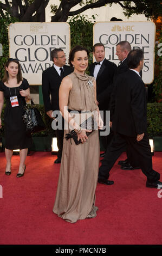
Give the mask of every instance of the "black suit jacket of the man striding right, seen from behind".
[{"label": "black suit jacket of the man striding right, seen from behind", "polygon": [[147,97],[145,84],[133,70],[115,79],[115,104],[112,130],[129,137],[147,131]]}]

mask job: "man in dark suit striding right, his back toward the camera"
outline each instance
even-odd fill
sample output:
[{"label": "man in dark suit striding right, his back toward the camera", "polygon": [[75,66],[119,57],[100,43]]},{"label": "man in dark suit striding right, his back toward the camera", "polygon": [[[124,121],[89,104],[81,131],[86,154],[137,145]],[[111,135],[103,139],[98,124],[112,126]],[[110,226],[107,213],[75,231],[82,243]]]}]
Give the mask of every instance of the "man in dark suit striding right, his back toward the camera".
[{"label": "man in dark suit striding right, his back toward the camera", "polygon": [[139,74],[144,65],[144,53],[139,49],[129,52],[127,64],[129,69],[118,75],[114,82],[112,130],[131,145],[133,154],[137,155],[141,170],[147,177],[146,187],[159,188],[162,182],[159,181],[160,174],[152,169],[147,138],[146,89]]}]

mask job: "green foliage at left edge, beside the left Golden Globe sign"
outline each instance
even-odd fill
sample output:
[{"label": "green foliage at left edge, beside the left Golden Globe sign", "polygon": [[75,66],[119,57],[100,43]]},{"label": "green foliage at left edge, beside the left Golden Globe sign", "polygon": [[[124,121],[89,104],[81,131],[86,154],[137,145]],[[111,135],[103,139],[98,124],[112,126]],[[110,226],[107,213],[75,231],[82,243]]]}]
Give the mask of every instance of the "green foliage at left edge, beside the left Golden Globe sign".
[{"label": "green foliage at left edge, beside the left Golden Globe sign", "polygon": [[0,56],[0,80],[4,75],[4,64],[9,58],[9,40],[8,40],[8,26],[10,23],[18,21],[15,18],[10,17],[8,13],[5,17],[0,19],[0,44],[2,44],[3,56]]}]

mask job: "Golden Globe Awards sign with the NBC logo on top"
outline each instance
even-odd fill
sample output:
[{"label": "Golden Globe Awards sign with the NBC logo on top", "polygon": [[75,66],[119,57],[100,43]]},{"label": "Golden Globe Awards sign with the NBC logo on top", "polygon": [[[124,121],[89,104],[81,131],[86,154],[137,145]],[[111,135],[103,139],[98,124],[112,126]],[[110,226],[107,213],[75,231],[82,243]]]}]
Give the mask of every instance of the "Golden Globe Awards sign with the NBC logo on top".
[{"label": "Golden Globe Awards sign with the NBC logo on top", "polygon": [[153,22],[96,22],[94,24],[93,42],[101,42],[105,45],[105,57],[119,63],[116,56],[116,44],[120,41],[128,41],[132,50],[141,48],[144,51],[144,68],[142,80],[146,84],[154,79],[154,45],[155,25]]}]

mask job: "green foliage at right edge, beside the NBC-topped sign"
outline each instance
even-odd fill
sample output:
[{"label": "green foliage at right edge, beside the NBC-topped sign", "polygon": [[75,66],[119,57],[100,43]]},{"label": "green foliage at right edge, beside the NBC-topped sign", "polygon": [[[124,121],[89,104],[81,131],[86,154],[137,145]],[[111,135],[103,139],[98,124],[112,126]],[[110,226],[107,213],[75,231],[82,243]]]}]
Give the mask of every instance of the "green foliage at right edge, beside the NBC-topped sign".
[{"label": "green foliage at right edge, beside the NBC-topped sign", "polygon": [[155,94],[155,100],[157,101],[162,99],[162,31],[158,32],[159,41],[158,45],[155,46],[155,68],[157,68],[157,74],[155,75],[153,81],[153,93]]}]

